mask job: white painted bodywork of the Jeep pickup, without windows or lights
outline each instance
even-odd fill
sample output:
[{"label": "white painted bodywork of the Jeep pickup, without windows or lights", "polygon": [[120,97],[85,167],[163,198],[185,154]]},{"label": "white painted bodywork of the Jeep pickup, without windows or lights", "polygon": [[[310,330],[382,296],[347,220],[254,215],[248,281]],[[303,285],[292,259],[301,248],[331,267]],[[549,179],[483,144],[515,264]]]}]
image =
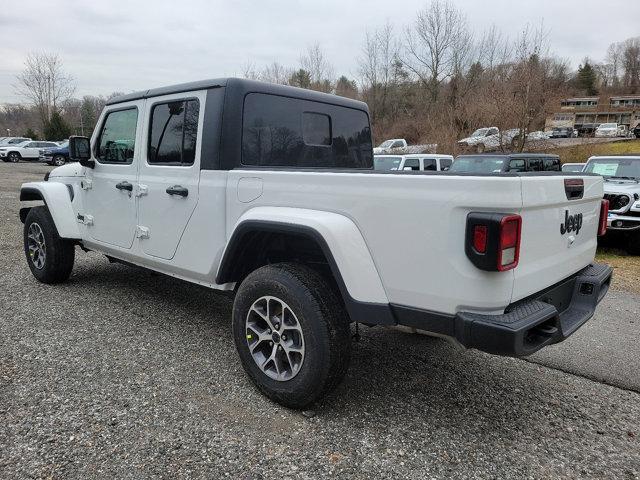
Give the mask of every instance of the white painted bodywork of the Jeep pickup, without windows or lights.
[{"label": "white painted bodywork of the Jeep pickup, without windows or lights", "polygon": [[[201,102],[205,96],[205,91],[188,92],[189,98]],[[25,185],[43,192],[63,237],[151,270],[228,290],[232,284],[217,284],[215,278],[237,225],[245,219],[304,225],[323,236],[354,299],[444,314],[503,313],[511,303],[593,261],[600,177],[581,177],[584,197],[569,202],[563,182],[571,177],[561,175],[201,170],[199,155],[193,168],[151,167],[145,160],[149,109],[174,97],[185,95],[119,103],[102,113],[92,145],[109,111],[139,109],[131,165],[98,162],[90,169],[72,163],[53,169],[48,182]],[[131,196],[114,188],[123,180],[133,185]],[[193,202],[165,196],[164,189],[178,182],[188,185]],[[72,202],[61,184],[73,185]],[[568,210],[584,215],[583,232],[571,244],[560,234]],[[471,212],[522,216],[520,264],[515,270],[487,272],[466,257],[465,229]],[[78,221],[78,215],[92,217],[93,224]],[[147,229],[147,236],[140,227]]]}]

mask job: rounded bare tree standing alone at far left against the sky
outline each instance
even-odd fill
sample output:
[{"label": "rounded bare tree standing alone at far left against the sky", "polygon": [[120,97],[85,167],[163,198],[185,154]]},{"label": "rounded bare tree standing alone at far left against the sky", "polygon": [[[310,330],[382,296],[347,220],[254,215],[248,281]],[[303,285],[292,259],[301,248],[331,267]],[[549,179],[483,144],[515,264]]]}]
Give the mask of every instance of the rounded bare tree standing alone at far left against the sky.
[{"label": "rounded bare tree standing alone at far left against the sky", "polygon": [[75,92],[75,82],[62,68],[57,54],[30,53],[25,68],[17,76],[16,92],[27,97],[37,108],[42,125]]}]

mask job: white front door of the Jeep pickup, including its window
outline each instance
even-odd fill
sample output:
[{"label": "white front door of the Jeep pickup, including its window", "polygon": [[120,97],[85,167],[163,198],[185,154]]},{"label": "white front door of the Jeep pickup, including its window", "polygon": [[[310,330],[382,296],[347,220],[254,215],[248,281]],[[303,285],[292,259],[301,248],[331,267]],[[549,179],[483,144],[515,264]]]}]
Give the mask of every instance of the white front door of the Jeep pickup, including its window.
[{"label": "white front door of the Jeep pickup, including its window", "polygon": [[94,240],[131,248],[136,231],[136,184],[143,101],[113,105],[102,115],[83,185],[84,219]]}]

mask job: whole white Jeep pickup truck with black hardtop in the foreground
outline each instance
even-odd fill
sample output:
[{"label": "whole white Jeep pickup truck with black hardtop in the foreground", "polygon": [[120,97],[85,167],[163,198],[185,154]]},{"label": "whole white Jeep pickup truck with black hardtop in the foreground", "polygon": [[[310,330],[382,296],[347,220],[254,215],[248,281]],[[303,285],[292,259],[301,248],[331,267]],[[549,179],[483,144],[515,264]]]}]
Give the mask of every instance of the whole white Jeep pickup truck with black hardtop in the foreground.
[{"label": "whole white Jeep pickup truck with black hardtop in the foreground", "polygon": [[[243,367],[303,408],[343,377],[353,322],[498,355],[560,342],[594,313],[603,180],[560,172],[376,172],[366,104],[240,79],[110,100],[91,139],[25,183],[33,275],[78,245],[235,294]],[[169,321],[169,320],[168,320]]]}]

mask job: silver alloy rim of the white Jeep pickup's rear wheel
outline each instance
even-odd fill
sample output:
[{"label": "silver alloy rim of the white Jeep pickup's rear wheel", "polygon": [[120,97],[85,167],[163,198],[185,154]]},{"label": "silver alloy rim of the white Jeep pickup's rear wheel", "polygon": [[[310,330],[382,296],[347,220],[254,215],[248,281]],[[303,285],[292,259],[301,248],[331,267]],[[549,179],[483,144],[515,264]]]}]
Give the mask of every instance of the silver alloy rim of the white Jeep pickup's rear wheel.
[{"label": "silver alloy rim of the white Jeep pickup's rear wheel", "polygon": [[285,382],[304,362],[304,335],[293,310],[277,297],[253,302],[245,321],[249,352],[265,375]]}]

